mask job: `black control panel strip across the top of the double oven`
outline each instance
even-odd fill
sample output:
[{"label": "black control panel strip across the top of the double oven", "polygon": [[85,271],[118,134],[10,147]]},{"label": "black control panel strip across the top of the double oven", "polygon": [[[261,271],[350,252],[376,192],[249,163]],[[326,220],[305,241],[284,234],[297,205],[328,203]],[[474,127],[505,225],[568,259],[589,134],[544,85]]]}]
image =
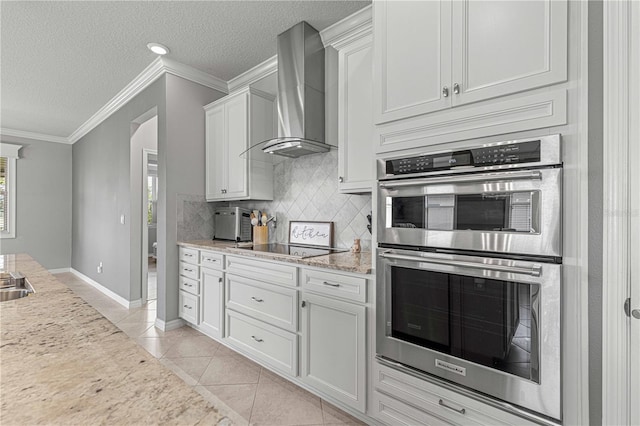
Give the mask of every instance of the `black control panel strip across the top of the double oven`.
[{"label": "black control panel strip across the top of the double oven", "polygon": [[503,145],[441,152],[414,157],[386,160],[389,176],[428,173],[458,168],[503,166],[538,163],[541,159],[541,140],[528,140]]}]

